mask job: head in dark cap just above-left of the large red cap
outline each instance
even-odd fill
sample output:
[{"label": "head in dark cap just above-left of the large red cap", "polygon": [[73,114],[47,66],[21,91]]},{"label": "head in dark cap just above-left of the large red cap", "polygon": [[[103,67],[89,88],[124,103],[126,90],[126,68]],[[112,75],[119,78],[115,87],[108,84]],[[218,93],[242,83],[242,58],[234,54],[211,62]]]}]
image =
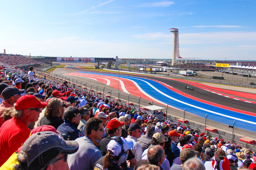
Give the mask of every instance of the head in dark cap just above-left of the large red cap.
[{"label": "head in dark cap just above-left of the large red cap", "polygon": [[2,97],[6,103],[9,103],[10,105],[14,105],[14,103],[17,102],[17,100],[20,98],[20,94],[23,94],[24,90],[19,90],[14,86],[9,86],[3,89],[2,91]]}]

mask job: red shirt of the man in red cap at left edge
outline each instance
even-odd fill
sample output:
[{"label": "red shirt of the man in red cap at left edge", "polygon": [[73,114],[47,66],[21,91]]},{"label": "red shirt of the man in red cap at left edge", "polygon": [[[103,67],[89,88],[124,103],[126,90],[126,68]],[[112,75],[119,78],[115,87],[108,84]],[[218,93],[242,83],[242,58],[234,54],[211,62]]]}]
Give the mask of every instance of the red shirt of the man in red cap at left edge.
[{"label": "red shirt of the man in red cap at left edge", "polygon": [[28,126],[19,119],[12,118],[0,128],[0,166],[27,140]]}]

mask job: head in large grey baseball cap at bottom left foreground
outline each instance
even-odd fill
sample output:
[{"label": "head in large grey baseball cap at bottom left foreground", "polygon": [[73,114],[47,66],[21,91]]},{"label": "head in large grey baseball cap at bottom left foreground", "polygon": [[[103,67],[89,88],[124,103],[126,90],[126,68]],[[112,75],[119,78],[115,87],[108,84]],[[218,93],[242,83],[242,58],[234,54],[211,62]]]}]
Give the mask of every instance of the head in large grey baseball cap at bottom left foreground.
[{"label": "head in large grey baseball cap at bottom left foreground", "polygon": [[65,141],[50,131],[31,135],[17,156],[20,169],[66,169],[67,155],[78,150],[76,141]]}]

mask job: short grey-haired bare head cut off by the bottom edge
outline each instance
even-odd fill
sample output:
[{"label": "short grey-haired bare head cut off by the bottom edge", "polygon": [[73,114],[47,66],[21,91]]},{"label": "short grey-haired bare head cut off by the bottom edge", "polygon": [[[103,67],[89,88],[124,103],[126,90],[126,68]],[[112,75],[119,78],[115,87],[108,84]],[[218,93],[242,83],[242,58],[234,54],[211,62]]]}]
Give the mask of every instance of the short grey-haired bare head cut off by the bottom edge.
[{"label": "short grey-haired bare head cut off by the bottom edge", "polygon": [[183,164],[182,170],[205,170],[205,167],[200,159],[192,157]]}]

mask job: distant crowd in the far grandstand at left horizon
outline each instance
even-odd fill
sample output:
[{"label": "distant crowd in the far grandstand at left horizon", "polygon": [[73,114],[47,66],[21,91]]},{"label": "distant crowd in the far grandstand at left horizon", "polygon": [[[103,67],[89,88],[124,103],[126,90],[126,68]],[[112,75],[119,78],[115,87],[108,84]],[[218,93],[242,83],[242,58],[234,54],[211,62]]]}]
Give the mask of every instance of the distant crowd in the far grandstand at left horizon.
[{"label": "distant crowd in the far grandstand at left horizon", "polygon": [[5,66],[14,66],[14,65],[21,65],[21,64],[36,64],[39,63],[35,60],[31,60],[23,55],[19,54],[2,54],[0,53],[1,57],[1,65]]}]

